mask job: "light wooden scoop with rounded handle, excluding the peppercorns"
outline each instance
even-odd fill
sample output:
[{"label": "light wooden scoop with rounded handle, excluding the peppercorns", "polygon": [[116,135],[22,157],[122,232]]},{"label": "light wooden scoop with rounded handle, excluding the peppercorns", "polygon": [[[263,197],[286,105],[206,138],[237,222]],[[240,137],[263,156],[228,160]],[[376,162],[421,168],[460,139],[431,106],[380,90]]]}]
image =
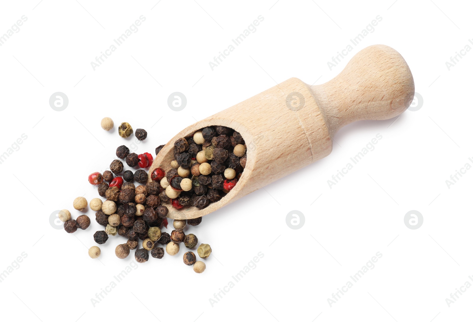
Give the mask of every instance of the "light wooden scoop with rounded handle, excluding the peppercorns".
[{"label": "light wooden scoop with rounded handle, excluding the peppercorns", "polygon": [[245,139],[247,161],[236,186],[207,208],[176,210],[167,217],[197,218],[288,175],[332,151],[336,131],[358,120],[386,120],[412,102],[414,80],[403,57],[393,48],[373,45],[357,53],[342,72],[322,85],[288,80],[244,102],[188,126],[159,152],[149,170],[171,169],[176,139],[207,126],[223,125]]}]

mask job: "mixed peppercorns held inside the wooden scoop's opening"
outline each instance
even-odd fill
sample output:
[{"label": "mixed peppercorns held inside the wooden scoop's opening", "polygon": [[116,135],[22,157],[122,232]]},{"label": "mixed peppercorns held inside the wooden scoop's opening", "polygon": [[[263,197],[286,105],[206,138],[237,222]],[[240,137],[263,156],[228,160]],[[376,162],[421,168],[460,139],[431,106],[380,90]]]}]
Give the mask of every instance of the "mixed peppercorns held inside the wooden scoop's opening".
[{"label": "mixed peppercorns held inside the wooden scoop's opening", "polygon": [[246,146],[240,133],[225,126],[209,126],[193,137],[177,139],[174,157],[167,174],[162,168],[151,174],[151,180],[165,189],[159,193],[160,200],[175,209],[203,209],[235,187],[246,165]]}]

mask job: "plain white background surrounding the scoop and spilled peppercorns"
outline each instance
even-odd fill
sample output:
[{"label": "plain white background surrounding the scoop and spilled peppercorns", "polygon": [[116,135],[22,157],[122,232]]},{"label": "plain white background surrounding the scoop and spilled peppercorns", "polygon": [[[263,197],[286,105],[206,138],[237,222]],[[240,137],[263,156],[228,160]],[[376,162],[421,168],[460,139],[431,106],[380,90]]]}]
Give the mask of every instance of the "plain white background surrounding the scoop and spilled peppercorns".
[{"label": "plain white background surrounding the scoop and spilled peppercorns", "polygon": [[[21,16],[20,31],[0,46],[1,150],[26,134],[0,165],[0,271],[17,264],[0,284],[2,317],[28,321],[465,321],[473,288],[450,307],[446,298],[473,275],[471,184],[467,171],[446,180],[473,157],[473,53],[454,67],[445,62],[471,35],[471,7],[452,1],[2,1],[0,35]],[[141,15],[146,20],[96,70],[90,62]],[[256,31],[212,71],[209,61],[258,16]],[[343,61],[327,61],[376,16],[374,27]],[[134,262],[114,255],[121,236],[88,257],[96,230],[54,229],[50,214],[72,200],[97,196],[88,174],[103,172],[119,145],[131,147],[100,120],[130,122],[150,152],[177,131],[290,77],[322,84],[371,44],[386,44],[409,64],[418,111],[398,119],[352,123],[339,131],[328,157],[255,191],[188,229],[212,247],[207,270],[195,274],[184,250],[150,258],[117,283],[95,307],[91,298]],[[470,46],[473,46],[470,44]],[[182,112],[167,97],[182,92]],[[69,105],[54,111],[49,97]],[[416,95],[413,105],[419,103]],[[395,122],[394,122],[395,121]],[[394,122],[394,123],[393,123]],[[327,184],[350,157],[382,135],[353,169]],[[131,148],[133,150],[133,148]],[[297,151],[294,151],[297,153]],[[269,174],[268,174],[269,175]],[[316,200],[316,201],[315,201]],[[74,210],[74,211],[73,211]],[[286,216],[305,215],[291,229]],[[409,229],[417,210],[423,225]],[[171,229],[167,229],[168,232]],[[258,252],[264,257],[217,304],[209,299]],[[382,257],[337,303],[337,292],[375,253]],[[134,264],[132,264],[134,265]],[[470,280],[473,283],[473,281]],[[227,288],[228,289],[228,288]],[[458,293],[457,293],[458,294]]]}]

